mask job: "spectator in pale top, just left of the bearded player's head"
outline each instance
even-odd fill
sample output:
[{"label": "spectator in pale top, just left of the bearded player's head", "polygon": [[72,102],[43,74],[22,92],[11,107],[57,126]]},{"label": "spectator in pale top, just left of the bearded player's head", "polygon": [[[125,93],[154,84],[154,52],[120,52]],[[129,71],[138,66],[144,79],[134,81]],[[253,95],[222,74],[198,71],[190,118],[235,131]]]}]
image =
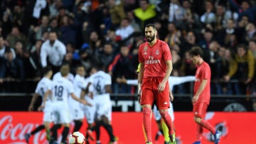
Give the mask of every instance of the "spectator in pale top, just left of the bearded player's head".
[{"label": "spectator in pale top, just left of the bearded player's head", "polygon": [[130,24],[129,19],[124,18],[122,19],[119,28],[115,31],[115,34],[117,36],[120,36],[121,40],[124,40],[125,38],[128,38],[129,36],[131,36],[133,32],[134,32],[134,29]]}]

